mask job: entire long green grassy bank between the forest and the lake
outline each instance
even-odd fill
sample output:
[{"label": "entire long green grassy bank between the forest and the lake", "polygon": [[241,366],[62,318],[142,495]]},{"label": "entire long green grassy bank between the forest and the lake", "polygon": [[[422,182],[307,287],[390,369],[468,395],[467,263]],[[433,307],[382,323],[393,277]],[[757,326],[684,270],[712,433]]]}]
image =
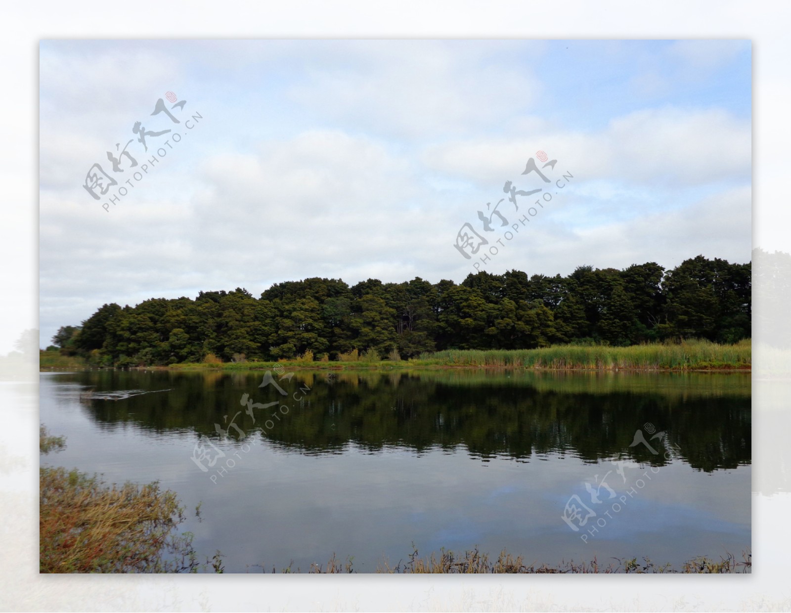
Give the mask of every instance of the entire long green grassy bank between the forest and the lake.
[{"label": "entire long green grassy bank between the forest and the lake", "polygon": [[[421,354],[410,360],[305,361],[281,360],[289,369],[403,369],[403,368],[524,368],[554,370],[749,370],[752,346],[749,339],[735,345],[705,340],[674,344],[646,344],[629,347],[602,345],[557,345],[524,350],[445,350]],[[174,370],[271,369],[273,362],[220,362],[173,364]]]}]

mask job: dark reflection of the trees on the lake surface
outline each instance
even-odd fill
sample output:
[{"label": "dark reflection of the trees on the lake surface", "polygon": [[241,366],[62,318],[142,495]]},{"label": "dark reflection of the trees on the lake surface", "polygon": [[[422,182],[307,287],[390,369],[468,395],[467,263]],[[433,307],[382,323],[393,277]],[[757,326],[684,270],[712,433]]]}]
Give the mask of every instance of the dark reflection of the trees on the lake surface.
[{"label": "dark reflection of the trees on the lake surface", "polygon": [[[261,375],[213,374],[212,386],[207,388],[199,374],[151,373],[147,380],[151,388],[167,384],[173,391],[117,403],[93,401],[86,406],[99,422],[137,422],[158,433],[192,429],[214,437],[214,424],[237,411],[241,414],[236,423],[244,431],[262,426],[268,415],[259,415],[254,423],[240,405],[245,392],[257,402],[278,399],[274,390],[269,398],[257,388]],[[135,375],[84,373],[83,377],[91,378],[97,388],[117,389],[139,387]],[[635,430],[650,422],[666,430],[683,460],[702,471],[751,461],[748,377],[691,380],[686,392],[679,392],[680,384],[675,388],[657,384],[650,391],[649,381],[624,383],[618,391],[612,382],[600,381],[607,393],[595,393],[591,381],[579,385],[584,377],[520,380],[502,375],[486,380],[486,376],[467,375],[465,380],[464,373],[419,377],[414,373],[339,373],[326,380],[321,373],[298,373],[290,382],[290,392],[305,386],[310,391],[300,401],[291,394],[283,399],[290,407],[286,417],[267,433],[254,436],[314,453],[337,451],[349,443],[372,451],[462,447],[482,457],[524,460],[532,454],[555,453],[596,462],[623,456],[658,466],[666,463],[663,455],[653,456],[642,445],[629,446]],[[585,386],[587,391],[566,391]],[[714,393],[717,387],[727,393]]]}]

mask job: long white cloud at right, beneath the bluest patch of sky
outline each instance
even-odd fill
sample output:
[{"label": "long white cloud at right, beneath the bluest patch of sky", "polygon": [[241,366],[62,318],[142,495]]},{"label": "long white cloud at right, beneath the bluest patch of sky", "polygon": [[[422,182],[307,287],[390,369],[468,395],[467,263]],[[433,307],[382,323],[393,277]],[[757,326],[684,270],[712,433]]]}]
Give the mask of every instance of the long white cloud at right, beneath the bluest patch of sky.
[{"label": "long white cloud at right, beneath the bluest patch of sky", "polygon": [[438,172],[484,184],[515,180],[537,146],[558,159],[556,168],[585,180],[634,184],[702,185],[749,180],[750,123],[721,109],[645,109],[612,119],[602,131],[536,127],[521,138],[479,138],[426,149],[423,161]]}]

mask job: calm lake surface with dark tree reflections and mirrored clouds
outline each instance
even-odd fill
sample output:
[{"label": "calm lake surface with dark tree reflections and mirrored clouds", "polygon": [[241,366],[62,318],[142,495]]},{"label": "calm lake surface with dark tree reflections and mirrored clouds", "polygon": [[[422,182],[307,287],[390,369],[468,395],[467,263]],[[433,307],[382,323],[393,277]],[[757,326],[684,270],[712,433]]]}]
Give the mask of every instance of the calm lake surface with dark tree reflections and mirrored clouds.
[{"label": "calm lake surface with dark tree reflections and mirrored clouds", "polygon": [[333,553],[373,572],[411,543],[550,565],[751,545],[749,375],[273,374],[287,395],[261,371],[42,373],[41,422],[67,443],[42,462],[201,502],[186,529],[226,572]]}]

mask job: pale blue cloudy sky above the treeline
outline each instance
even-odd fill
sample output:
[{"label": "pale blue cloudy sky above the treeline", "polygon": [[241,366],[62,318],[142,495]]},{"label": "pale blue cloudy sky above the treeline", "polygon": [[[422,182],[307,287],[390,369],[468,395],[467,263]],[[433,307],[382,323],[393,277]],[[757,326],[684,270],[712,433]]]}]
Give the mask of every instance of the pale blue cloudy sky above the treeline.
[{"label": "pale blue cloudy sky above the treeline", "polygon": [[[158,99],[179,123],[152,115]],[[170,132],[146,151],[136,122]],[[551,184],[521,174],[539,151]],[[98,200],[94,164],[116,180]],[[506,181],[543,191],[517,214]],[[479,221],[505,198],[513,225],[547,195],[511,240]],[[489,240],[471,259],[453,246],[465,223]],[[42,346],[108,302],[314,276],[460,282],[494,245],[480,270],[749,261],[750,43],[40,45]]]}]

